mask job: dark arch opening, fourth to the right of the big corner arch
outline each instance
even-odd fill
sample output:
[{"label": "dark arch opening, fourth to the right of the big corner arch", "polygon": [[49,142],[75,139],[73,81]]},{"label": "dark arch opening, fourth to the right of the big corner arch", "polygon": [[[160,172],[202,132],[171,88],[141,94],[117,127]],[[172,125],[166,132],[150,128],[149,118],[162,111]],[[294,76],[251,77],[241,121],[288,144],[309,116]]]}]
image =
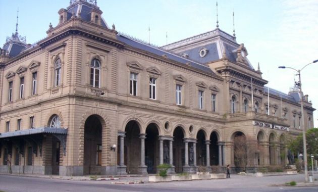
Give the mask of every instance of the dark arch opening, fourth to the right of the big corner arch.
[{"label": "dark arch opening, fourth to the right of the big corner arch", "polygon": [[196,139],[196,163],[198,166],[206,166],[206,145],[203,130],[199,130],[196,135]]}]

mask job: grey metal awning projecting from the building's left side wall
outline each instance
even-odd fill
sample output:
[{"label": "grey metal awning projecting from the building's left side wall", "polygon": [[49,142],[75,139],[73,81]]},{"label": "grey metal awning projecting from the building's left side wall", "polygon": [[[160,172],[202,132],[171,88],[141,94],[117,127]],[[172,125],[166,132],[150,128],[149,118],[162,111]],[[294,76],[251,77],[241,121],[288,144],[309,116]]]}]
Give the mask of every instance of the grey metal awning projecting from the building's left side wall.
[{"label": "grey metal awning projecting from the building's left side wall", "polygon": [[51,133],[51,134],[67,134],[67,128],[54,128],[54,127],[41,127],[25,130],[16,130],[11,132],[0,133],[0,138],[8,138],[23,135],[33,135],[39,133]]}]

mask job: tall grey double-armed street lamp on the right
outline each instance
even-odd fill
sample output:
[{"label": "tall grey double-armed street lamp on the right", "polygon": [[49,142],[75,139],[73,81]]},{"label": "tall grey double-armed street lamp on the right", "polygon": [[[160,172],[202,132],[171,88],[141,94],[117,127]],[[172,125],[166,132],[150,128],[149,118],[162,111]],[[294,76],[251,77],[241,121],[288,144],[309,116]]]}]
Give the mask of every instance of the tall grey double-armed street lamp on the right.
[{"label": "tall grey double-armed street lamp on the right", "polygon": [[318,62],[318,59],[317,60],[314,60],[313,62],[311,63],[308,63],[307,65],[305,65],[303,68],[301,68],[300,70],[297,70],[297,69],[294,69],[292,67],[285,67],[285,66],[280,66],[278,68],[280,69],[292,69],[292,70],[295,70],[297,71],[298,74],[298,78],[299,78],[299,81],[298,82],[295,82],[295,85],[298,86],[299,88],[299,94],[300,94],[300,108],[301,108],[301,124],[302,124],[302,139],[303,139],[303,148],[304,148],[304,169],[305,169],[305,182],[308,182],[308,170],[307,170],[307,147],[306,147],[306,133],[305,133],[305,119],[304,119],[304,108],[303,108],[303,93],[302,93],[302,90],[301,90],[301,79],[300,79],[300,72],[301,70],[303,70],[305,67],[307,67],[308,65],[312,64],[312,63],[316,63]]}]

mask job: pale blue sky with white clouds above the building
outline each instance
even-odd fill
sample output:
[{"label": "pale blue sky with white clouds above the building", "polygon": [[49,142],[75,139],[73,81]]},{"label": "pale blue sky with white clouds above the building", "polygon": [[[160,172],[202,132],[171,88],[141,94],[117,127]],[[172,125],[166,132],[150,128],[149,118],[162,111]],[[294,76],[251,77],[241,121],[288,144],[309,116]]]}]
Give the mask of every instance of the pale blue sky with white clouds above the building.
[{"label": "pale blue sky with white clouds above the building", "polygon": [[[0,0],[0,46],[16,28],[28,43],[46,37],[48,25],[56,26],[58,11],[69,6],[68,0]],[[213,0],[97,0],[102,17],[116,30],[150,43],[164,45],[216,28],[216,1]],[[288,66],[301,69],[318,59],[318,0],[219,0],[219,25],[223,31],[235,33],[244,43],[254,68],[260,64],[268,86],[288,93],[296,72],[278,69]],[[168,34],[168,38],[166,38]],[[301,71],[304,94],[318,109],[318,62]],[[318,112],[314,112],[318,127]]]}]

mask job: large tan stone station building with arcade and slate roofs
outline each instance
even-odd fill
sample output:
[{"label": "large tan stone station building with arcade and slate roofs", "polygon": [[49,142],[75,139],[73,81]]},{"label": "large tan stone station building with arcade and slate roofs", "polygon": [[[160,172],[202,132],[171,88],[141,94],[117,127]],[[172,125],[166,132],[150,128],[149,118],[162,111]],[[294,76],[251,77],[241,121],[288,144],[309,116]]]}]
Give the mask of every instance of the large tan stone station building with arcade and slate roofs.
[{"label": "large tan stone station building with arcade and slate roofs", "polygon": [[[15,173],[60,175],[154,173],[163,163],[172,173],[235,168],[238,133],[265,149],[249,167],[286,163],[287,149],[274,143],[301,133],[298,93],[264,88],[235,37],[217,28],[153,47],[109,28],[101,14],[90,1],[72,1],[45,39],[0,56],[1,172],[10,164]],[[235,61],[222,44],[217,59],[191,60],[189,50],[216,39],[236,47]],[[307,129],[314,109],[307,97],[304,106]],[[21,134],[45,127],[67,136]]]}]

